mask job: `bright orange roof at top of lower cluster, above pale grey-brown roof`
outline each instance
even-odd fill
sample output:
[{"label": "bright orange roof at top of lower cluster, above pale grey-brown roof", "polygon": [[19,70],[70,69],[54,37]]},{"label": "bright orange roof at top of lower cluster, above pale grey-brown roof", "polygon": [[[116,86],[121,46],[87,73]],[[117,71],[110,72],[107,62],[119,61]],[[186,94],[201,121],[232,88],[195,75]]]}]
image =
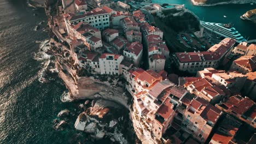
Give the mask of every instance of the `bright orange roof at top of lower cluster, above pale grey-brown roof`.
[{"label": "bright orange roof at top of lower cluster, above pale grey-brown roof", "polygon": [[153,70],[147,70],[143,71],[143,73],[138,76],[138,79],[152,85],[155,81],[161,80],[162,77]]}]

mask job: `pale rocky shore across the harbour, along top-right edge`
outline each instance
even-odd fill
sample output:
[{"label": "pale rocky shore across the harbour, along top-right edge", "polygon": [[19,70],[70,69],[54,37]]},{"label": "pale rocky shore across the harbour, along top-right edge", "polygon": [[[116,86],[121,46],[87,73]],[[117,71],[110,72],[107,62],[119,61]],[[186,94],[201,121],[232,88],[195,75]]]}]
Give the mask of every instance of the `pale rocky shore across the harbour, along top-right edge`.
[{"label": "pale rocky shore across the harbour, along top-right edge", "polygon": [[246,3],[255,3],[254,0],[230,0],[226,2],[217,2],[217,3],[209,3],[207,4],[207,0],[205,2],[198,2],[198,0],[191,0],[193,5],[196,6],[215,6],[215,5],[220,5],[220,4],[246,4]]}]

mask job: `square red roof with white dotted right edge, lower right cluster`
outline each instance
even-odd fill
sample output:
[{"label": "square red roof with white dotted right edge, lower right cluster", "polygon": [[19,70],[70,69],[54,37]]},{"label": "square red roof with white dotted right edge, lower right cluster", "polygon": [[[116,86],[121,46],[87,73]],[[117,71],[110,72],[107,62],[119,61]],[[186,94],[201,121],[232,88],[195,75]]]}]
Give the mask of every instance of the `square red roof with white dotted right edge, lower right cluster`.
[{"label": "square red roof with white dotted right edge, lower right cluster", "polygon": [[206,121],[211,121],[212,123],[216,123],[219,116],[222,114],[217,107],[213,105],[207,105],[205,109],[202,111],[200,116]]}]

